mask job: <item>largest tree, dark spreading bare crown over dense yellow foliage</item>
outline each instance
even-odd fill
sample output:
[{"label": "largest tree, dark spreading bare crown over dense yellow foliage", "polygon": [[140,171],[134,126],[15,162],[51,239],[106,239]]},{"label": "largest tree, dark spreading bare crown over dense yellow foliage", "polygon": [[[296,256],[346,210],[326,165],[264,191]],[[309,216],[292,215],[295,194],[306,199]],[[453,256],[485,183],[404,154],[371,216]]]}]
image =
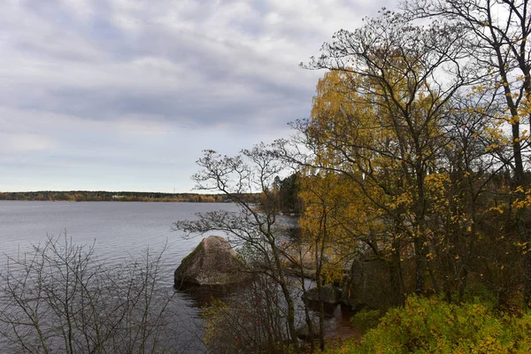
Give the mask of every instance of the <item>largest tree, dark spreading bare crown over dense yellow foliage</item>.
[{"label": "largest tree, dark spreading bare crown over dense yellow foliage", "polygon": [[[319,83],[312,120],[300,127],[308,142],[319,145],[319,165],[347,173],[363,188],[370,182],[388,197],[373,202],[387,212],[396,235],[412,241],[416,291],[425,290],[427,272],[437,289],[427,262],[426,177],[445,144],[445,107],[470,80],[458,65],[459,35],[441,24],[415,27],[404,15],[384,11],[334,39],[308,67],[339,73]],[[450,80],[440,79],[445,72],[454,73]],[[333,83],[338,80],[339,86]],[[331,112],[337,95],[350,112],[345,104]],[[322,164],[325,157],[336,162]]]}]

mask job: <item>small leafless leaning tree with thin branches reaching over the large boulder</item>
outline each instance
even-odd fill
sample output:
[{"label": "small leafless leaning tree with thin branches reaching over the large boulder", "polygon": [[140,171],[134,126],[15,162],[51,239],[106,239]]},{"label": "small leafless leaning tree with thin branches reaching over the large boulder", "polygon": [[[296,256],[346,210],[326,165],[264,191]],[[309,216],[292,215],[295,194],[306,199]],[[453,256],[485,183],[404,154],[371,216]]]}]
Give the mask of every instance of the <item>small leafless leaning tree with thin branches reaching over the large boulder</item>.
[{"label": "small leafless leaning tree with thin branches reaching over the large boulder", "polygon": [[[240,210],[199,213],[199,219],[178,221],[174,226],[187,235],[223,231],[233,244],[242,246],[249,271],[266,275],[281,289],[289,342],[298,351],[293,280],[285,271],[292,257],[279,222],[278,190],[273,188],[275,177],[285,172],[286,165],[263,143],[232,158],[206,150],[197,163],[202,170],[194,175],[196,189],[221,192]],[[260,196],[259,204],[253,203],[252,195]]]}]

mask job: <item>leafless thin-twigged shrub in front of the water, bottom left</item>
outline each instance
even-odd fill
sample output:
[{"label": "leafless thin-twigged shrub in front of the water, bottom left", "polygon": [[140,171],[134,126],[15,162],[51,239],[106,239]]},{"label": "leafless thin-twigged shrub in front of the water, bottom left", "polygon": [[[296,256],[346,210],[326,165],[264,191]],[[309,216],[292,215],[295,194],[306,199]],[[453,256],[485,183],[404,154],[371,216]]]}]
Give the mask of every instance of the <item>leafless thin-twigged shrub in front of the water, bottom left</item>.
[{"label": "leafless thin-twigged shrub in front of the water, bottom left", "polygon": [[[0,342],[25,353],[178,352],[173,293],[159,286],[162,252],[119,266],[94,246],[50,237],[9,258],[0,279]],[[184,343],[183,343],[184,344]]]}]

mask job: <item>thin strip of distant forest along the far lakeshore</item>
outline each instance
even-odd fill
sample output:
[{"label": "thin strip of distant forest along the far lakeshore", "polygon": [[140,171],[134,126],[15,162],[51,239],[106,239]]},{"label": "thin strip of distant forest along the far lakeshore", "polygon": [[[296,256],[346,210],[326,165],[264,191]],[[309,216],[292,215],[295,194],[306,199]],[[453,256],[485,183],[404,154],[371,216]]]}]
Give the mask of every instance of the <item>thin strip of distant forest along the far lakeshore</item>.
[{"label": "thin strip of distant forest along the far lakeshore", "polygon": [[[242,195],[246,200],[259,201],[259,195]],[[225,195],[196,193],[159,193],[159,192],[112,192],[112,191],[51,191],[36,192],[0,192],[0,200],[40,200],[73,202],[189,202],[224,203],[231,202]]]}]

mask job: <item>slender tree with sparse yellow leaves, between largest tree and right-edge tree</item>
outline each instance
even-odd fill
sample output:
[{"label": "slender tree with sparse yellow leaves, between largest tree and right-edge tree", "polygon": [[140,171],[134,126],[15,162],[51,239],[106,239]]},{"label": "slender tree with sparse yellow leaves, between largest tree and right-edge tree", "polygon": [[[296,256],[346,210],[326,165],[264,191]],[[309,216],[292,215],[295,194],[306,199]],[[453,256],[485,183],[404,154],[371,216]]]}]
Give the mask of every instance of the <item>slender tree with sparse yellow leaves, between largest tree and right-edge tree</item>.
[{"label": "slender tree with sparse yellow leaves, between largest tree and right-edge tree", "polygon": [[[477,96],[454,96],[442,120],[446,144],[435,170],[427,176],[430,203],[429,258],[436,265],[444,294],[463,301],[469,273],[477,270],[478,241],[488,238],[481,227],[489,212],[490,181],[504,165],[489,153],[490,119],[497,112],[492,101]],[[474,266],[475,265],[475,266]]]}]

